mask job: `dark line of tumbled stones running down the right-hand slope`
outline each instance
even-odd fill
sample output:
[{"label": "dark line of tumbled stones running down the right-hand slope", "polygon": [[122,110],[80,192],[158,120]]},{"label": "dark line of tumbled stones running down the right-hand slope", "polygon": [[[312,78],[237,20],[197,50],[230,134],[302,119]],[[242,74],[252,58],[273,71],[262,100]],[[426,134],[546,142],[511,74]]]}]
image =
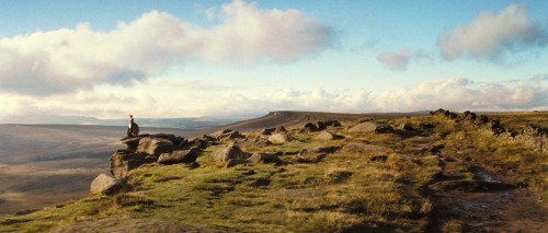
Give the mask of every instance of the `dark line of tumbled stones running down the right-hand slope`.
[{"label": "dark line of tumbled stones running down the right-hand slope", "polygon": [[500,120],[489,119],[486,115],[478,116],[476,113],[471,113],[469,110],[463,114],[456,114],[439,108],[435,112],[431,112],[430,114],[434,116],[443,116],[457,123],[470,124],[475,128],[489,131],[496,137],[510,141],[517,141],[538,152],[548,153],[548,128],[537,125],[527,125],[522,130],[514,130],[504,127]]}]

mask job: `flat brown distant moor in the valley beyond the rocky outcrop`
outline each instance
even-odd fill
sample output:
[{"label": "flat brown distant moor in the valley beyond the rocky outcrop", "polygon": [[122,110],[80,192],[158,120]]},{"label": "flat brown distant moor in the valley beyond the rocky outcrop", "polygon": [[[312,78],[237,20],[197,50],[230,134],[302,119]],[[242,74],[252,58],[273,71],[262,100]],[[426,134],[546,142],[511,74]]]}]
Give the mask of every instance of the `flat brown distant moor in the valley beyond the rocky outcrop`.
[{"label": "flat brown distant moor in the valley beyond the rocky outcrop", "polygon": [[[142,133],[192,135],[142,128]],[[109,158],[124,148],[117,126],[0,125],[0,214],[38,209],[89,194],[93,178],[109,174]]]}]

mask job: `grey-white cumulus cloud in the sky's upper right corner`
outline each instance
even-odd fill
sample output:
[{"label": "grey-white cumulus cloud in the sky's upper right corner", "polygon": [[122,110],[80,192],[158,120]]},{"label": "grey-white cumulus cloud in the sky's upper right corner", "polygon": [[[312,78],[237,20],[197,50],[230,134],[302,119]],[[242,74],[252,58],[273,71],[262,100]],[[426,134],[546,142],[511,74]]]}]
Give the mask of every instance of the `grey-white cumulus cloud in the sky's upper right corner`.
[{"label": "grey-white cumulus cloud in the sky's upper right corner", "polygon": [[545,46],[547,42],[546,28],[528,19],[527,8],[522,4],[507,5],[499,14],[481,12],[468,25],[447,32],[438,39],[447,60],[463,56],[498,60],[506,53]]}]

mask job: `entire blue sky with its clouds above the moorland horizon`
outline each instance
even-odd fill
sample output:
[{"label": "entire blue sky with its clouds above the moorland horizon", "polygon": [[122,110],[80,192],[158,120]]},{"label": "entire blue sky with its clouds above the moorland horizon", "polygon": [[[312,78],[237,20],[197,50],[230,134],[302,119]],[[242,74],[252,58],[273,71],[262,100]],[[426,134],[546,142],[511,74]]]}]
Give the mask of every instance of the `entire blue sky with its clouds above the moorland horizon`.
[{"label": "entire blue sky with its clouds above the moorland horizon", "polygon": [[0,123],[548,110],[548,1],[1,0]]}]

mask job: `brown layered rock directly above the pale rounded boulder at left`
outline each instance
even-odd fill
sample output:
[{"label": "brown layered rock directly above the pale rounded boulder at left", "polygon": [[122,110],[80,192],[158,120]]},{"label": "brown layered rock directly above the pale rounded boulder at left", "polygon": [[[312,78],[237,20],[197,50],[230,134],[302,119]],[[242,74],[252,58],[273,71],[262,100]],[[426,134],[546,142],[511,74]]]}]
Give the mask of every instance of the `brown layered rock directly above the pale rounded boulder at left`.
[{"label": "brown layered rock directly above the pale rounded boulder at left", "polygon": [[111,174],[115,177],[126,177],[127,173],[147,163],[147,155],[118,150],[111,155]]}]

